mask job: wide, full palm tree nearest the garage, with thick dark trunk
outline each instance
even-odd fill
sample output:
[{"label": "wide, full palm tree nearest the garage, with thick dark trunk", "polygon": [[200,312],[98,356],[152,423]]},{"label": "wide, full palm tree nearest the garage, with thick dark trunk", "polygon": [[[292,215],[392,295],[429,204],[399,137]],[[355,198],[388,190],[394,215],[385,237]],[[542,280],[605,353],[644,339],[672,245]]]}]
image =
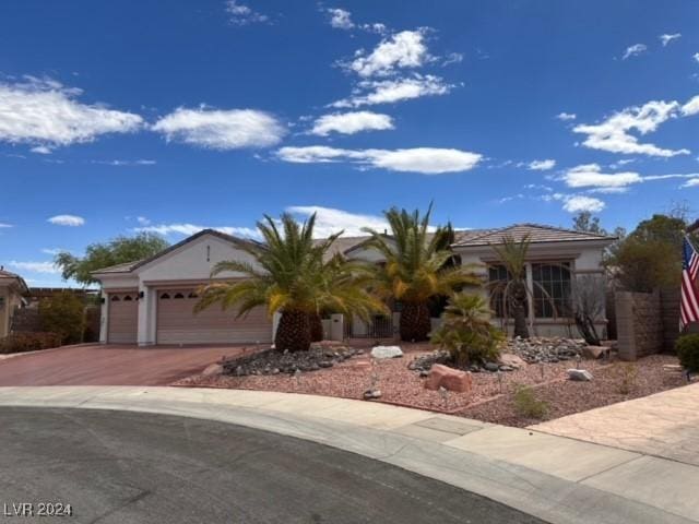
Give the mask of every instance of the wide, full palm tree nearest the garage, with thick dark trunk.
[{"label": "wide, full palm tree nearest the garage, with thick dark trunk", "polygon": [[283,214],[280,223],[264,215],[257,224],[263,241],[240,245],[252,257],[252,263],[224,261],[214,266],[212,277],[225,272],[241,273],[244,277],[204,286],[197,311],[214,303],[223,309],[237,308],[238,317],[258,307],[265,307],[270,317],[279,311],[275,347],[295,352],[309,348],[309,315],[321,307],[359,317],[382,308],[365,289],[365,277],[355,264],[342,258],[325,262],[328,250],[342,231],[315,241],[315,214],[300,225]]}]

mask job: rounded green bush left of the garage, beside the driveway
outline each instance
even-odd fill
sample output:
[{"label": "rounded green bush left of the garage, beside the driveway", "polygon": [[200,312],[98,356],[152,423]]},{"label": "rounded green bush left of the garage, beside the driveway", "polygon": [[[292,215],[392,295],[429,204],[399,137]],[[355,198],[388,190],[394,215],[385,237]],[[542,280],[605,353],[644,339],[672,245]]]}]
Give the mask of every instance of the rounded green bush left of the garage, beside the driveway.
[{"label": "rounded green bush left of the garage, beside the driveway", "polygon": [[82,342],[85,329],[85,305],[70,291],[61,291],[39,302],[42,331],[58,333],[61,344]]}]

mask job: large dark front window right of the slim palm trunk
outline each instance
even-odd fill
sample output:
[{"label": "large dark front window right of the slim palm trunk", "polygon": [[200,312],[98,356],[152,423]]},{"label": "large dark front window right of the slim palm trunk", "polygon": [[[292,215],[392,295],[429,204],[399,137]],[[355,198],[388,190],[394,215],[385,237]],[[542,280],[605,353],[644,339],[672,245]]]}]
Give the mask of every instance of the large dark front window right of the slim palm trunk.
[{"label": "large dark front window right of the slim palm trunk", "polygon": [[570,262],[532,264],[532,279],[535,318],[570,314]]}]

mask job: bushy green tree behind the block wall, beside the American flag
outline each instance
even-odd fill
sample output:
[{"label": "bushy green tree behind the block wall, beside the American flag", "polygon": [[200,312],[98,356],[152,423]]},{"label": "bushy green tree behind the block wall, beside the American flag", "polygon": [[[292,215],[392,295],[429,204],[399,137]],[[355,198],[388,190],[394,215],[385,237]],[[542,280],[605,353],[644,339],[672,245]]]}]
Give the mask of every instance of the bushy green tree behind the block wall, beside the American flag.
[{"label": "bushy green tree behind the block wall, beside the American flag", "polygon": [[676,287],[682,277],[682,245],[687,222],[656,214],[642,221],[611,253],[606,265],[630,291]]}]

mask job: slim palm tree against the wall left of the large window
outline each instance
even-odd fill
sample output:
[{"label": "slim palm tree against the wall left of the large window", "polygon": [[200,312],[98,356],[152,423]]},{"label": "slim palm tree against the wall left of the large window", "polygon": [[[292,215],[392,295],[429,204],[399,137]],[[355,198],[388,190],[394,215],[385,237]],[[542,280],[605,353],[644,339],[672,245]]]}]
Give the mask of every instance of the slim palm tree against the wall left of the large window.
[{"label": "slim palm tree against the wall left of the large window", "polygon": [[501,246],[490,246],[498,257],[498,262],[505,266],[507,278],[488,284],[490,293],[496,299],[502,300],[503,317],[507,319],[511,311],[514,320],[514,336],[529,338],[526,326],[526,254],[530,237],[525,235],[521,240],[514,240],[511,235],[502,237]]}]

